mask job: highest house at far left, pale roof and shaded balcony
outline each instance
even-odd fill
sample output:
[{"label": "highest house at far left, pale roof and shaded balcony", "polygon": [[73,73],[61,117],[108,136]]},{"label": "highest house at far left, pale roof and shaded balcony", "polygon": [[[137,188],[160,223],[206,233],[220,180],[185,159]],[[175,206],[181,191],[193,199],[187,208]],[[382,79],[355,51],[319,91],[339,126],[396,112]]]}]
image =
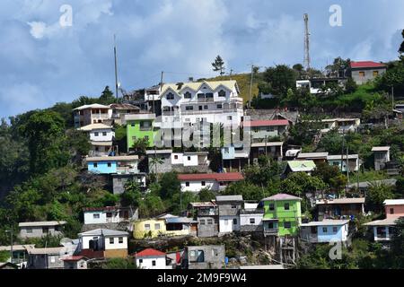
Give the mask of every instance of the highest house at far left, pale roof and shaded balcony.
[{"label": "highest house at far left, pale roof and shaded balcony", "polygon": [[84,105],[73,109],[75,127],[110,122],[112,111],[109,106],[100,104]]}]

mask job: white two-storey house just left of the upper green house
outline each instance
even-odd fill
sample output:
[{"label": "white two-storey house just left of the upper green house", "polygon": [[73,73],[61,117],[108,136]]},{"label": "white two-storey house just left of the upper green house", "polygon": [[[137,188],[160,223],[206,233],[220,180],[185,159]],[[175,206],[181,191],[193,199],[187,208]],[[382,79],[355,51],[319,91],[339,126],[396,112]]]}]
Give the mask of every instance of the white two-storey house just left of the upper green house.
[{"label": "white two-storey house just left of the upper green house", "polygon": [[112,126],[104,124],[91,124],[78,128],[90,136],[92,149],[90,156],[108,156],[112,152],[112,142],[115,138],[115,132]]}]

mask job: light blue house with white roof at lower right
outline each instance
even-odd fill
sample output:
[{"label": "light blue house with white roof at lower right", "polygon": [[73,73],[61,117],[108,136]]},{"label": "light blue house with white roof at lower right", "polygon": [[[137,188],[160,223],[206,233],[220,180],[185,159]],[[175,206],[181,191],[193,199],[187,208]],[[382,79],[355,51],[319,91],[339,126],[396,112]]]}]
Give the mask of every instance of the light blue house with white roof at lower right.
[{"label": "light blue house with white roof at lower right", "polygon": [[300,237],[311,243],[346,242],[348,224],[348,220],[324,220],[322,222],[303,223],[300,229]]}]

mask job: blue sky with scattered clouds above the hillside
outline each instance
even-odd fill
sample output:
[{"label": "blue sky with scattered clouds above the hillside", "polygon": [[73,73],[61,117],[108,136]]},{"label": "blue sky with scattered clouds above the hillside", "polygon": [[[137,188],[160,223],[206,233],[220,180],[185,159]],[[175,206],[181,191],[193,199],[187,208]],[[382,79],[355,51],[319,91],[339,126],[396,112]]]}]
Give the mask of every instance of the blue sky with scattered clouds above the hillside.
[{"label": "blue sky with scattered clouds above the hillside", "polygon": [[165,83],[214,76],[217,55],[227,73],[303,63],[303,13],[316,68],[338,56],[396,59],[403,11],[401,0],[2,0],[0,117],[114,87],[114,34],[131,91],[162,71]]}]

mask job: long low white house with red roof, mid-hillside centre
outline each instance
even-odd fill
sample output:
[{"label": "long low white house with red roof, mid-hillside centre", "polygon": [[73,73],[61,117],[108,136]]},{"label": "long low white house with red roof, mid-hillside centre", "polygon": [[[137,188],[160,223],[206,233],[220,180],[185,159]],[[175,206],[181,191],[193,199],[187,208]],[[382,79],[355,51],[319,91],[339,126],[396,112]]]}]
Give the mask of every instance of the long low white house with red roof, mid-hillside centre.
[{"label": "long low white house with red roof, mid-hillside centre", "polygon": [[242,173],[190,173],[179,174],[178,178],[181,183],[181,190],[199,192],[202,188],[208,188],[212,191],[220,191],[227,187],[230,183],[242,180]]}]

